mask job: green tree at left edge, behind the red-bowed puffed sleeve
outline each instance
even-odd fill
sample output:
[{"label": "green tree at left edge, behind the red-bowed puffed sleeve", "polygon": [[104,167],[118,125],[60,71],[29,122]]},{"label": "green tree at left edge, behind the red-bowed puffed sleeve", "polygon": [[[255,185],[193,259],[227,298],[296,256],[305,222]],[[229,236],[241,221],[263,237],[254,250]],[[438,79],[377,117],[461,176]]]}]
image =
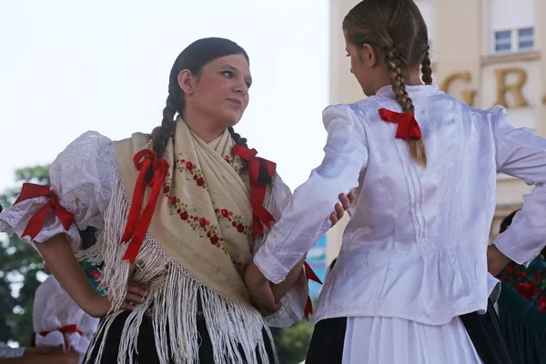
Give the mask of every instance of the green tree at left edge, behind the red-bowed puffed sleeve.
[{"label": "green tree at left edge, behind the red-bowed puffed sleeve", "polygon": [[[10,207],[24,182],[49,185],[49,166],[26,167],[15,171],[18,187],[0,195],[0,205]],[[14,340],[28,345],[33,333],[34,294],[45,274],[35,249],[15,236],[0,244],[0,341]]]}]

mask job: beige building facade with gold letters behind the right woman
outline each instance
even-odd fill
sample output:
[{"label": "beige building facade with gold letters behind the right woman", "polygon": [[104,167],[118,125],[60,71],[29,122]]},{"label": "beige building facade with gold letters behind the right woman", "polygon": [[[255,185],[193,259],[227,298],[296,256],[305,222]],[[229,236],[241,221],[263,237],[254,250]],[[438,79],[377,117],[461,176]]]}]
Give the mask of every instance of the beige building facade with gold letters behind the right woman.
[{"label": "beige building facade with gold letters behind the right woman", "polygon": [[[364,95],[349,72],[341,32],[343,17],[359,1],[330,1],[330,103],[350,103]],[[470,106],[506,106],[511,124],[546,136],[546,16],[543,0],[416,0],[429,27],[435,84]],[[491,226],[520,208],[531,191],[519,179],[499,175],[497,209]],[[328,235],[328,260],[339,252],[347,223]]]}]

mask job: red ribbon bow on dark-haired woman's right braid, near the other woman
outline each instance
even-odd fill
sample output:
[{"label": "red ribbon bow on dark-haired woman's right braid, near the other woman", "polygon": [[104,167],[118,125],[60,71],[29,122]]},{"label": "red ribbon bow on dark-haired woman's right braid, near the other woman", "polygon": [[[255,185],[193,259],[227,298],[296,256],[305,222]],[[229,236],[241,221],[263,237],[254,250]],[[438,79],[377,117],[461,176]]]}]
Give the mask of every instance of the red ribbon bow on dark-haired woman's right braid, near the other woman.
[{"label": "red ribbon bow on dark-haired woman's right braid, near the other woman", "polygon": [[256,149],[236,145],[232,153],[243,158],[248,162],[248,175],[250,177],[250,202],[252,204],[252,234],[263,235],[264,227],[262,223],[271,229],[270,222],[275,222],[275,218],[264,207],[264,198],[266,197],[266,187],[258,182],[259,168],[264,167],[269,176],[274,176],[277,164],[260,157],[256,157]]}]

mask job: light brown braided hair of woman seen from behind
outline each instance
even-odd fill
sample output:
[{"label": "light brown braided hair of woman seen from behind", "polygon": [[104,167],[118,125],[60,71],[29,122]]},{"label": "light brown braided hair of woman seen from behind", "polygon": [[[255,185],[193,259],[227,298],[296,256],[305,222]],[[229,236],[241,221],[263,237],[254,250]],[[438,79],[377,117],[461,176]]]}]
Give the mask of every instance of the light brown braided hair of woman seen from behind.
[{"label": "light brown braided hair of woman seen from behind", "polygon": [[[423,82],[432,84],[429,33],[419,7],[412,0],[363,0],[345,16],[343,31],[351,45],[369,44],[385,55],[396,99],[405,114],[415,112],[402,70],[421,66]],[[410,137],[407,143],[413,160],[426,167],[422,139]]]}]

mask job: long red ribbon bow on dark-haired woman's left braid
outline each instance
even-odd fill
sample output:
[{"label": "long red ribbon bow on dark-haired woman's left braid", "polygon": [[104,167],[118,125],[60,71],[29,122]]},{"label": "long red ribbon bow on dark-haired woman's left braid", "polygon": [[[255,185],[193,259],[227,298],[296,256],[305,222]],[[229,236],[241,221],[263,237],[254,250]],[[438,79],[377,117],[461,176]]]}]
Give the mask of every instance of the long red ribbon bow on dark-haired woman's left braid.
[{"label": "long red ribbon bow on dark-haired woman's left braid", "polygon": [[[129,217],[127,217],[126,229],[120,243],[124,244],[129,239],[131,240],[123,256],[123,260],[129,260],[131,264],[135,263],[138,250],[140,250],[144,241],[147,228],[150,225],[154,209],[156,208],[157,197],[161,193],[161,188],[169,167],[167,160],[158,158],[156,152],[151,149],[143,149],[136,153],[135,157],[133,157],[133,162],[135,163],[136,170],[140,172],[136,178],[135,192],[133,193],[131,208],[129,209]],[[148,198],[147,206],[142,215],[140,215],[146,192],[147,171],[150,168],[153,172],[153,177],[149,182],[152,191]]]}]

